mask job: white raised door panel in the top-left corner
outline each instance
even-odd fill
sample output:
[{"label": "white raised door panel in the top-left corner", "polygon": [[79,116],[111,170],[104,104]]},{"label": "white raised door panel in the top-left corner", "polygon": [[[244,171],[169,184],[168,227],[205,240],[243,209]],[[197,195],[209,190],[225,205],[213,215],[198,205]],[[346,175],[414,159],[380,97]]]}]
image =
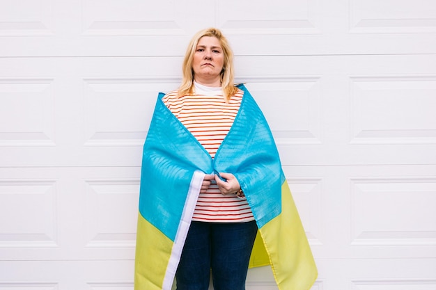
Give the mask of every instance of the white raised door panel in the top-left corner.
[{"label": "white raised door panel in the top-left corner", "polygon": [[0,1],[0,36],[52,35],[53,0]]}]

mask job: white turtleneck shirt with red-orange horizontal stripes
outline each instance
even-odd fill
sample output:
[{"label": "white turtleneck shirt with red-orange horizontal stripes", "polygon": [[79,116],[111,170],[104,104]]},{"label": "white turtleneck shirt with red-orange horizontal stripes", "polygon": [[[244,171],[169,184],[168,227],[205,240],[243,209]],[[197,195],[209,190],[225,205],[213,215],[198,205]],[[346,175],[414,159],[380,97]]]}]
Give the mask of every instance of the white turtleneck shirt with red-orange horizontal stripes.
[{"label": "white turtleneck shirt with red-orange horizontal stripes", "polygon": [[[215,157],[221,142],[238,114],[244,92],[239,90],[226,102],[221,88],[195,83],[195,94],[177,97],[177,91],[164,96],[164,104],[191,134]],[[232,223],[254,220],[246,199],[222,195],[215,182],[206,193],[200,193],[192,220]]]}]

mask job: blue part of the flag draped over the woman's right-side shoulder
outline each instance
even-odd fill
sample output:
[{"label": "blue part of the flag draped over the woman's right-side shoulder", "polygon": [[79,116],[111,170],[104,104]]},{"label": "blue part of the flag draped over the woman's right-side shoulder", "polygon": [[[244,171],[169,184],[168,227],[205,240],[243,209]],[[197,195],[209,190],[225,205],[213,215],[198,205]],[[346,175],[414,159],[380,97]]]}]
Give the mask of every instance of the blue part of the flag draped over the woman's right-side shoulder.
[{"label": "blue part of the flag draped over the woman's right-side shoulder", "polygon": [[281,170],[279,152],[265,117],[251,94],[244,98],[235,122],[215,154],[214,168],[230,172],[240,182],[258,227],[281,212]]}]

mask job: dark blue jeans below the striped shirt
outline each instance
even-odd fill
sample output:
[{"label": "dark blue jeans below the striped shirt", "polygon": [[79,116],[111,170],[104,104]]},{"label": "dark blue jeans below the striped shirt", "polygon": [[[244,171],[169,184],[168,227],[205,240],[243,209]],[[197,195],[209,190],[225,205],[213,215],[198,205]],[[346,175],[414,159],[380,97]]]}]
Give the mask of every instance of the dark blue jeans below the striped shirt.
[{"label": "dark blue jeans below the striped shirt", "polygon": [[191,223],[176,272],[177,290],[244,290],[256,239],[255,221]]}]

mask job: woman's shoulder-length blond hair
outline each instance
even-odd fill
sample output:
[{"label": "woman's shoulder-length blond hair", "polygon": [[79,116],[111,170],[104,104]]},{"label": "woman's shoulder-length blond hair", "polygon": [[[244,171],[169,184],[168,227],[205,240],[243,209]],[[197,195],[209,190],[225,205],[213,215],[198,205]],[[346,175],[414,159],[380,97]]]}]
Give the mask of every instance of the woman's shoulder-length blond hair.
[{"label": "woman's shoulder-length blond hair", "polygon": [[219,40],[221,48],[224,54],[224,65],[220,74],[221,88],[224,92],[224,97],[228,101],[232,95],[238,92],[238,88],[235,87],[233,83],[234,69],[233,69],[233,51],[228,44],[227,39],[221,33],[219,29],[209,28],[198,31],[186,50],[185,59],[182,65],[182,83],[178,88],[178,97],[183,95],[192,95],[194,93],[194,70],[192,70],[192,61],[194,59],[194,54],[198,41],[203,36],[213,36]]}]

